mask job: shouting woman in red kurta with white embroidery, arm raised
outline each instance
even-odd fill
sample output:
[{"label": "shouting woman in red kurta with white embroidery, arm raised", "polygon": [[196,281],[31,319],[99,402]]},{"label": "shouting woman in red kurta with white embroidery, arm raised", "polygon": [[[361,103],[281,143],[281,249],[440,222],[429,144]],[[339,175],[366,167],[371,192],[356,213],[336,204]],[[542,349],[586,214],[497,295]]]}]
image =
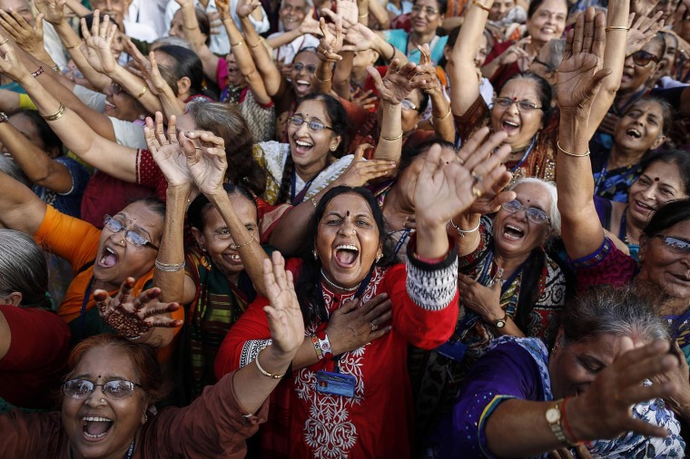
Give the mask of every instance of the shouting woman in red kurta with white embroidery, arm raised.
[{"label": "shouting woman in red kurta with white embroidery, arm raised", "polygon": [[[460,161],[439,161],[438,145],[429,152],[415,190],[417,236],[409,243],[407,267],[394,263],[382,214],[368,190],[338,187],[321,199],[306,238],[315,241],[314,256],[288,266],[298,278],[306,338],[292,362],[294,377],[281,383],[281,411],[271,412],[274,421],[281,416],[285,438],[277,438],[278,429],[264,433],[272,442],[264,444],[274,448],[271,453],[409,457],[407,347],[437,347],[452,332],[458,316],[457,256],[449,247],[446,223],[474,200],[473,167],[484,177],[477,189],[488,189],[505,172],[500,161],[508,151],[488,158],[490,148],[473,153],[478,161],[464,167]],[[368,301],[381,293],[392,303],[383,316],[348,301]],[[248,365],[270,344],[261,317],[265,304],[258,298],[232,327],[216,357],[216,376]],[[335,333],[343,321],[349,337]],[[367,333],[353,339],[362,323]],[[325,392],[329,375],[324,370],[349,376],[354,396]]]}]

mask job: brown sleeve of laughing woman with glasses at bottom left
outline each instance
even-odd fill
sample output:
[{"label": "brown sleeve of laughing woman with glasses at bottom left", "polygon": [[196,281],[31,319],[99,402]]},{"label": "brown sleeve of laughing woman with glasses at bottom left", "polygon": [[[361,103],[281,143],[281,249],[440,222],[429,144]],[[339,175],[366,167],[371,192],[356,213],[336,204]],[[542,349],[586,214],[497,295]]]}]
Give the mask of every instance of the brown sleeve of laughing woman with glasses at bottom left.
[{"label": "brown sleeve of laughing woman with glasses at bottom left", "polygon": [[[256,415],[242,407],[232,386],[234,373],[206,386],[184,408],[168,407],[153,418],[143,441],[146,457],[244,457],[245,440],[268,417],[268,402]],[[166,451],[167,454],[161,454]]]}]

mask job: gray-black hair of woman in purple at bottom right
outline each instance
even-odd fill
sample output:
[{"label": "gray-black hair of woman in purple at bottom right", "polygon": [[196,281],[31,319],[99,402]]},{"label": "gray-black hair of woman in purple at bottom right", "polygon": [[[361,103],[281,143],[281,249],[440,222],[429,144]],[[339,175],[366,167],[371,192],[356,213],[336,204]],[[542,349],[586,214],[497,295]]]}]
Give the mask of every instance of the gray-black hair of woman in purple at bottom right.
[{"label": "gray-black hair of woman in purple at bottom right", "polygon": [[590,288],[563,309],[563,344],[567,346],[602,335],[647,342],[668,339],[667,324],[657,314],[658,304],[658,295],[651,288]]}]

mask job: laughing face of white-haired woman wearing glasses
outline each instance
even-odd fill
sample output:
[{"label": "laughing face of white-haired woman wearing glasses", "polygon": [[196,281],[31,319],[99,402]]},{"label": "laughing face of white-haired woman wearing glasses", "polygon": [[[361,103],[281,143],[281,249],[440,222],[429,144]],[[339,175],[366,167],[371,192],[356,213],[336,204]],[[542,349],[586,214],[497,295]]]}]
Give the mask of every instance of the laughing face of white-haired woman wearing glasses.
[{"label": "laughing face of white-haired woman wearing glasses", "polygon": [[[520,183],[513,189],[517,200],[524,207],[544,210],[549,215],[551,197],[544,187],[536,183]],[[501,256],[527,256],[537,247],[543,245],[548,237],[548,222],[535,223],[527,219],[527,210],[510,213],[501,208],[494,218],[494,243],[496,252]]]}]

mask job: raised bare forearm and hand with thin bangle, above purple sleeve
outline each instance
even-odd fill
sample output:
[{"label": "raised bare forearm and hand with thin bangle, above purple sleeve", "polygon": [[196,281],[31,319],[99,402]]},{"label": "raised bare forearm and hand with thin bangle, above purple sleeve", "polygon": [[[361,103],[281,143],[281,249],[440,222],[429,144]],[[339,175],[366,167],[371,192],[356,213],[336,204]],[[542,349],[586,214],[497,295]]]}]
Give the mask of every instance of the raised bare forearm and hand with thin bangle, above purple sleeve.
[{"label": "raised bare forearm and hand with thin bangle, above purple sleeve", "polygon": [[594,205],[594,180],[589,161],[589,112],[602,80],[610,73],[601,69],[605,46],[604,15],[594,8],[577,17],[567,36],[566,52],[558,67],[560,126],[556,183],[561,237],[570,259],[596,252],[604,241],[604,229]]}]

